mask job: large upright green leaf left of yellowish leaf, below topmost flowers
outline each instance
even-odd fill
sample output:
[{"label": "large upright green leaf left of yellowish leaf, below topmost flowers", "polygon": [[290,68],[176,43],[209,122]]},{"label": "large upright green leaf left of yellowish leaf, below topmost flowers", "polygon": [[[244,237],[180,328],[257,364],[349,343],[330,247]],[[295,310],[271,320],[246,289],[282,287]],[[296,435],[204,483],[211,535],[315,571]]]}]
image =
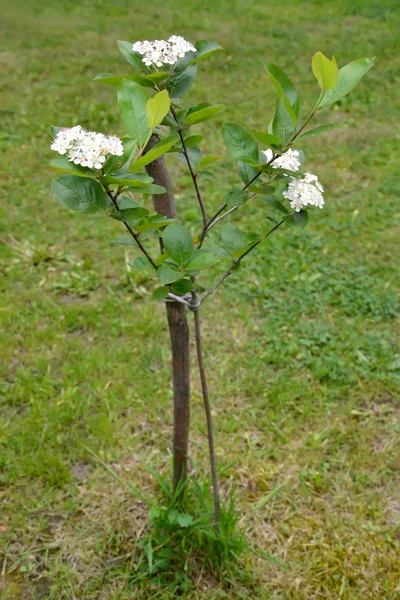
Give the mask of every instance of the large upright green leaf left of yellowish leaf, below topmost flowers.
[{"label": "large upright green leaf left of yellowish leaf, below topmost flowers", "polygon": [[134,81],[124,79],[118,88],[118,104],[121,120],[132,139],[138,146],[146,144],[151,129],[147,122],[148,96],[143,88]]}]

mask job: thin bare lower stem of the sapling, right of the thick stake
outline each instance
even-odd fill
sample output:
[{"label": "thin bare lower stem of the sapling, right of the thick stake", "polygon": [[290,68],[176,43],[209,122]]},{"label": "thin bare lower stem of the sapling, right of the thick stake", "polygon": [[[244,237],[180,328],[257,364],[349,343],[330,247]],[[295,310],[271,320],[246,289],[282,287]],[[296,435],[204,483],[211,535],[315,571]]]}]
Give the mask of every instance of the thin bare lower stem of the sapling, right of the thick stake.
[{"label": "thin bare lower stem of the sapling, right of the thick stake", "polygon": [[204,367],[203,349],[201,344],[201,327],[200,327],[200,313],[199,310],[195,310],[194,314],[194,326],[196,332],[196,350],[197,350],[197,362],[200,371],[201,391],[203,394],[204,410],[207,419],[207,437],[208,437],[208,448],[210,452],[210,464],[211,464],[211,478],[213,486],[213,498],[214,498],[214,518],[215,528],[218,533],[221,532],[220,521],[221,521],[221,509],[219,500],[219,489],[218,489],[218,476],[217,476],[217,462],[215,459],[215,447],[214,447],[214,431],[211,415],[211,406],[208,396],[207,389],[207,378]]}]

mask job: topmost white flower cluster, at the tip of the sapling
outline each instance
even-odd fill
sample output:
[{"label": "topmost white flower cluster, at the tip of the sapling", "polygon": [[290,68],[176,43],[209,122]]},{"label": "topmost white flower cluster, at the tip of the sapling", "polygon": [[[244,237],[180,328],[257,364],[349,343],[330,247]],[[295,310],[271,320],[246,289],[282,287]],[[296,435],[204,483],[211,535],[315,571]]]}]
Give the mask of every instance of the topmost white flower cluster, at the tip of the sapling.
[{"label": "topmost white flower cluster, at the tip of the sapling", "polygon": [[180,35],[171,35],[168,40],[154,40],[148,42],[135,42],[132,46],[134,52],[143,56],[142,61],[148,67],[155,65],[174,65],[186,52],[196,52],[196,48]]}]

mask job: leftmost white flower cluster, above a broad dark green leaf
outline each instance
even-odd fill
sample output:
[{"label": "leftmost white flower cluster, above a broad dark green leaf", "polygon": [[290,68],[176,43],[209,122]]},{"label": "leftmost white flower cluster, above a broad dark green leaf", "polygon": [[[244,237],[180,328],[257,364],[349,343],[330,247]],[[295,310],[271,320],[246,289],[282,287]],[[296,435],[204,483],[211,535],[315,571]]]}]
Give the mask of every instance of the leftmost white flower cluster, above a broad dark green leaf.
[{"label": "leftmost white flower cluster, above a broad dark green leaf", "polygon": [[110,154],[122,156],[124,153],[122,142],[116,135],[86,131],[80,125],[61,129],[51,149],[66,154],[76,165],[90,169],[101,169]]}]

